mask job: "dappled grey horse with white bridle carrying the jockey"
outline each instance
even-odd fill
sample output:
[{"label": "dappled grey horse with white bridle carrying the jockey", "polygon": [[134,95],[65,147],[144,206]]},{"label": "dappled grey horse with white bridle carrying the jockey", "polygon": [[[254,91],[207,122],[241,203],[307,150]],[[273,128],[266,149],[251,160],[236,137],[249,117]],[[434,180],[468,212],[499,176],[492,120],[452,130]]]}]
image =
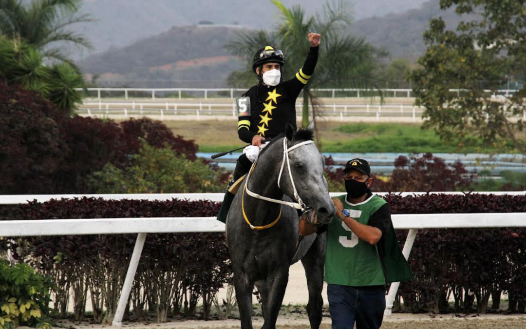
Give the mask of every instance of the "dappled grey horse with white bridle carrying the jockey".
[{"label": "dappled grey horse with white bridle carrying the jockey", "polygon": [[316,210],[318,222],[330,222],[336,207],[323,177],[323,157],[315,144],[309,142],[312,135],[312,126],[295,132],[287,125],[285,136],[276,137],[260,152],[230,207],[227,243],[242,329],[252,328],[254,285],[261,296],[265,320],[262,328],[276,327],[289,267],[298,260],[307,277],[310,326],[320,326],[326,234],[300,238],[298,211],[265,199],[296,201],[296,206]]}]

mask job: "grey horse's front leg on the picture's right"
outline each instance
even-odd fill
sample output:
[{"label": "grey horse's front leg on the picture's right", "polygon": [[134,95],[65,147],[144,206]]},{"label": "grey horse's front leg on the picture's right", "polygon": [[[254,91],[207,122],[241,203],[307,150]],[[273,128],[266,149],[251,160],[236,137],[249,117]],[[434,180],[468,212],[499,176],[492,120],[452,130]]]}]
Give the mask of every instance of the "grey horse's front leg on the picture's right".
[{"label": "grey horse's front leg on the picture's right", "polygon": [[289,281],[289,266],[280,266],[275,268],[274,271],[269,273],[267,277],[268,287],[268,299],[265,316],[265,323],[261,329],[275,329],[276,321],[278,320],[279,310],[283,297],[285,296],[285,290],[287,289],[287,283]]}]

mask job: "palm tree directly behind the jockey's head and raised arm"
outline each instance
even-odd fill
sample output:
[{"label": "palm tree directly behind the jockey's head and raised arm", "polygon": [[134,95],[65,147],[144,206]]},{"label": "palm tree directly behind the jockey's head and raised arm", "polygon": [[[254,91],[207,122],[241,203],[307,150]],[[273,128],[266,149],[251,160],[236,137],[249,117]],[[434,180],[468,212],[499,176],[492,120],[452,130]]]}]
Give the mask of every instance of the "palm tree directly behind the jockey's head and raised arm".
[{"label": "palm tree directly behind the jockey's head and raised arm", "polygon": [[248,63],[244,72],[234,72],[228,81],[234,86],[253,84],[252,56],[256,49],[265,45],[277,46],[285,53],[284,79],[292,78],[304,63],[309,51],[309,32],[321,34],[320,57],[316,72],[303,89],[303,119],[301,125],[309,124],[309,101],[315,98],[312,88],[363,87],[373,85],[375,59],[373,48],[363,38],[353,37],[346,32],[351,15],[345,3],[335,6],[326,4],[323,14],[307,17],[300,6],[285,7],[281,2],[272,1],[280,11],[281,22],[274,31],[240,33],[236,41],[227,45],[232,54]]}]

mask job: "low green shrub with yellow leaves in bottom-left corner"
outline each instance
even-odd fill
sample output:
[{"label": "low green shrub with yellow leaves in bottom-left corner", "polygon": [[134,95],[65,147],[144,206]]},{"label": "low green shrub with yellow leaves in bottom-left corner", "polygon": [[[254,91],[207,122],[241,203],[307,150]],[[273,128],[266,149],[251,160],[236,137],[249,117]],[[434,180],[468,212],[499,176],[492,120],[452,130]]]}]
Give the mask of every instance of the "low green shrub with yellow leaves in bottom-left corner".
[{"label": "low green shrub with yellow leaves in bottom-left corner", "polygon": [[0,328],[21,324],[50,328],[45,322],[50,287],[49,279],[29,265],[0,261]]}]

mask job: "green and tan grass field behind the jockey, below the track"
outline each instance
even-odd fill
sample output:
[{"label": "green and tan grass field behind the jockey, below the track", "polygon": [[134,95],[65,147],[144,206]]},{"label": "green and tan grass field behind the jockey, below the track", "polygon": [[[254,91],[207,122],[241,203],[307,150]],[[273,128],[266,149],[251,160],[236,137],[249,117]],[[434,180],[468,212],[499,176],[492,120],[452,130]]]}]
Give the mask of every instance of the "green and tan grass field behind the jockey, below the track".
[{"label": "green and tan grass field behind the jockey, below the track", "polygon": [[[236,121],[165,121],[175,135],[194,139],[200,152],[223,152],[244,145],[237,136]],[[502,149],[457,148],[444,144],[419,124],[320,122],[317,134],[321,152],[397,153],[503,153]]]}]

